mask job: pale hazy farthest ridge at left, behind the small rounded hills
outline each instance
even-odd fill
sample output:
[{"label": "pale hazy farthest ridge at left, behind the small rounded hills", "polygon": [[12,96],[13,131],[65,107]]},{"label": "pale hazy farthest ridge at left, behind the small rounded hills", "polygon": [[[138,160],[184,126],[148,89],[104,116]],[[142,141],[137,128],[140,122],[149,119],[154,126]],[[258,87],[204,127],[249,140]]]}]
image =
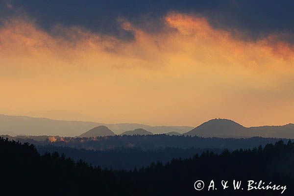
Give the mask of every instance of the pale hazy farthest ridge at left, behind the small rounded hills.
[{"label": "pale hazy farthest ridge at left, behind the small rounded hills", "polygon": [[83,121],[60,121],[27,116],[8,116],[0,114],[0,135],[59,135],[77,136],[99,125],[107,126],[115,134],[127,130],[143,128],[154,134],[176,131],[185,133],[191,126],[149,126],[138,123],[96,123]]}]

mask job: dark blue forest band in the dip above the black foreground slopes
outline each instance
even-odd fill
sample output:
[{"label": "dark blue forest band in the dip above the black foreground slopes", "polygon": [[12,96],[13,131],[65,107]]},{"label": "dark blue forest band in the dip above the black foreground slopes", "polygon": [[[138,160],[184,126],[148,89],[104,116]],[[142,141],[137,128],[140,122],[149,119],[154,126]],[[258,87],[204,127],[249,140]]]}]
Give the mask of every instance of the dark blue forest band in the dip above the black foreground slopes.
[{"label": "dark blue forest band in the dip above the black foreground slopes", "polygon": [[44,154],[46,152],[58,152],[66,154],[74,161],[82,159],[93,166],[101,168],[133,170],[150,165],[152,162],[160,161],[163,164],[172,160],[172,158],[190,158],[195,154],[201,154],[203,151],[213,151],[221,153],[223,149],[200,149],[200,148],[174,148],[147,149],[141,148],[115,148],[106,150],[86,150],[75,147],[58,147],[53,145],[37,146],[37,150]]}]

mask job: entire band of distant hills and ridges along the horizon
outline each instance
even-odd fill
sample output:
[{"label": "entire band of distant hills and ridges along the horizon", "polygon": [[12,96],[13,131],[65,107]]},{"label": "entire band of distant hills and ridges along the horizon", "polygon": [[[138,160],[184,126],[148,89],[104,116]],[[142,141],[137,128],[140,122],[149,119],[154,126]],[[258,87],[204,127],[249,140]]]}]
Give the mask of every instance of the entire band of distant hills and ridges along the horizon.
[{"label": "entire band of distant hills and ridges along the horizon", "polygon": [[193,128],[189,126],[149,126],[136,123],[103,124],[81,121],[58,121],[46,118],[0,115],[0,135],[97,137],[120,134],[148,135],[161,133],[220,138],[260,136],[294,139],[294,124],[245,127],[228,119],[212,119]]}]

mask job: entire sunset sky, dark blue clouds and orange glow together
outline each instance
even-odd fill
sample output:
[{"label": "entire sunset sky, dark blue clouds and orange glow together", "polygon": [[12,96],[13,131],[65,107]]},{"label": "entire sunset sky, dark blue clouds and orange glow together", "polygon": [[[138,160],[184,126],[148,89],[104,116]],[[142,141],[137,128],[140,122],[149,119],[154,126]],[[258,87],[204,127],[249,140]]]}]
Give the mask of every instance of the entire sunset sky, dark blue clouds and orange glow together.
[{"label": "entire sunset sky, dark blue clouds and orange glow together", "polygon": [[1,0],[0,113],[294,123],[293,2]]}]

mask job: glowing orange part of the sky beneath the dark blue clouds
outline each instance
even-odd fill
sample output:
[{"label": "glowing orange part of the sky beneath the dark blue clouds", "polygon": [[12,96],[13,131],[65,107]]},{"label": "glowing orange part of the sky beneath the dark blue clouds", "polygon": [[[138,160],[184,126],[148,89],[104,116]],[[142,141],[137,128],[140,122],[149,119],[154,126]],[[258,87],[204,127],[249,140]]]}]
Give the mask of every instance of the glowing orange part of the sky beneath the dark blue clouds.
[{"label": "glowing orange part of the sky beneath the dark blue clouds", "polygon": [[80,27],[56,26],[52,36],[33,22],[7,21],[0,107],[63,109],[112,123],[294,122],[294,49],[278,35],[243,41],[205,18],[170,13],[165,21],[175,30],[151,34],[120,19],[132,41]]}]

